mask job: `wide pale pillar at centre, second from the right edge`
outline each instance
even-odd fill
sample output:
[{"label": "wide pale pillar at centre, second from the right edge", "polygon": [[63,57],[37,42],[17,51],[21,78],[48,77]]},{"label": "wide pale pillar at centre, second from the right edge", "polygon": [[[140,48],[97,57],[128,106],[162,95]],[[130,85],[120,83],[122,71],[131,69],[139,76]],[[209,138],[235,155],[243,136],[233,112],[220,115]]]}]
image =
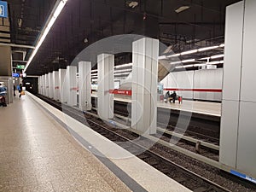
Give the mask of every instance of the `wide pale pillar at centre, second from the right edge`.
[{"label": "wide pale pillar at centre, second from the right edge", "polygon": [[132,44],[131,127],[156,133],[159,40],[142,38]]}]

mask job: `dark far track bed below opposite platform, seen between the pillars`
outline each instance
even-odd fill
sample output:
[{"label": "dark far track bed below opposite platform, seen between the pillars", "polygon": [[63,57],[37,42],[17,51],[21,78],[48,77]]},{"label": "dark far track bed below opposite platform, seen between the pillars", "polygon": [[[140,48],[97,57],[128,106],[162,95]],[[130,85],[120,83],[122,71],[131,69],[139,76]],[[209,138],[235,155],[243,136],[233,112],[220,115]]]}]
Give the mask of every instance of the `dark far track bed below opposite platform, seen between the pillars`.
[{"label": "dark far track bed below opposite platform, seen between the pillars", "polygon": [[[92,99],[92,106],[96,108],[96,99]],[[127,102],[114,101],[114,113],[131,119],[131,105]],[[207,115],[180,113],[177,110],[158,108],[157,125],[167,131],[182,133],[187,137],[194,137],[202,142],[219,144],[220,119],[218,117],[207,117]],[[181,116],[179,116],[181,115]],[[191,116],[191,117],[190,117]],[[177,125],[178,119],[181,118]],[[187,122],[189,125],[182,124]]]}]

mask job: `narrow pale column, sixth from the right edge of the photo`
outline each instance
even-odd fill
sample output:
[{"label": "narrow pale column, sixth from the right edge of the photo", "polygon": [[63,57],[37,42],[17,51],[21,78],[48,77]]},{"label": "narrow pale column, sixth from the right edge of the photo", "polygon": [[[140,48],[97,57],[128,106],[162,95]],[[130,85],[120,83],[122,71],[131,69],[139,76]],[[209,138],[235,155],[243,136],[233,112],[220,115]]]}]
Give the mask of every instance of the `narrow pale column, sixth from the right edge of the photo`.
[{"label": "narrow pale column, sixth from the right edge of the photo", "polygon": [[59,69],[60,102],[67,102],[67,69]]}]

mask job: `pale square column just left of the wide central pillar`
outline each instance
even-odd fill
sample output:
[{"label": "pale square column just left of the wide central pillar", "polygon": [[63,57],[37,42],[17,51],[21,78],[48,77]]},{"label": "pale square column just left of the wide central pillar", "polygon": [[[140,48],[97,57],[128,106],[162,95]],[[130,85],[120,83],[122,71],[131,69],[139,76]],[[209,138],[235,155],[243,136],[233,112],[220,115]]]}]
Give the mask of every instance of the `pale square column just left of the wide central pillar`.
[{"label": "pale square column just left of the wide central pillar", "polygon": [[114,55],[102,54],[97,56],[98,61],[98,114],[102,119],[113,118],[113,62]]}]

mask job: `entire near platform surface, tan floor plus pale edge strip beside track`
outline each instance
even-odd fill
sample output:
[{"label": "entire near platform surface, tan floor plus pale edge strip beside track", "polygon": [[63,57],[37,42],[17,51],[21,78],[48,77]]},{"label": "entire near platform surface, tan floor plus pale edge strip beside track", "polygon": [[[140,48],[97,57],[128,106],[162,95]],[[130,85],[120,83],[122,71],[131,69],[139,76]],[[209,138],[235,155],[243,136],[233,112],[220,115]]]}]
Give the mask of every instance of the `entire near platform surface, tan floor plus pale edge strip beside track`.
[{"label": "entire near platform surface, tan floor plus pale edge strip beside track", "polygon": [[189,191],[29,93],[0,108],[0,120],[0,191]]}]

